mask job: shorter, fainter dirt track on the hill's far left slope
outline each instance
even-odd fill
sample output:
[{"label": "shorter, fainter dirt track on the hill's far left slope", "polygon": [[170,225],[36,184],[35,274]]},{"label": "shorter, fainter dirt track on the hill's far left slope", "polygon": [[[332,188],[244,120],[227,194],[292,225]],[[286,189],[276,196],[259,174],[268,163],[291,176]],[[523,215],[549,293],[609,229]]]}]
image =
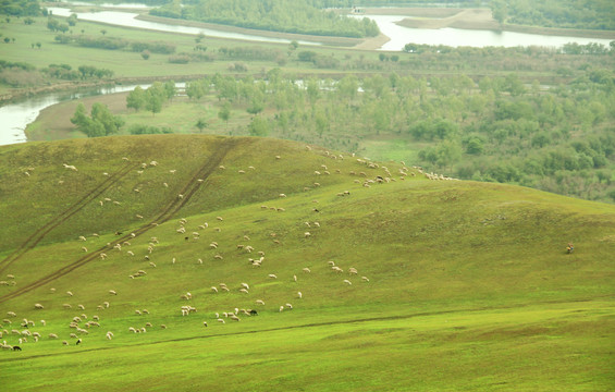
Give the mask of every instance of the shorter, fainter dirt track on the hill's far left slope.
[{"label": "shorter, fainter dirt track on the hill's far left slope", "polygon": [[52,218],[42,228],[35,231],[26,241],[17,247],[12,254],[7,256],[4,260],[0,261],[0,272],[3,272],[13,262],[19,260],[28,250],[34,248],[38,243],[53,229],[64,223],[69,218],[81,211],[87,204],[91,203],[95,198],[100,196],[104,191],[109,189],[113,184],[123,179],[133,169],[136,169],[138,163],[128,163],[124,168],[120,169],[115,173],[111,174],[103,182],[101,182],[94,189],[84,195],[75,204],[69,207],[66,210],[62,211],[59,216]]}]

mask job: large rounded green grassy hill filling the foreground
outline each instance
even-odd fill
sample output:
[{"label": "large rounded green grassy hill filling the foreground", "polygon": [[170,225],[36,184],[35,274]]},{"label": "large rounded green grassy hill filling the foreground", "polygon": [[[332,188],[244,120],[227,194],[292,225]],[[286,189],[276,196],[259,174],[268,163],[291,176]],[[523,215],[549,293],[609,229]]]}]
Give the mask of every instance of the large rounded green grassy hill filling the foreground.
[{"label": "large rounded green grassy hill filling the foreground", "polygon": [[0,177],[11,390],[615,387],[614,206],[247,137],[3,146]]}]

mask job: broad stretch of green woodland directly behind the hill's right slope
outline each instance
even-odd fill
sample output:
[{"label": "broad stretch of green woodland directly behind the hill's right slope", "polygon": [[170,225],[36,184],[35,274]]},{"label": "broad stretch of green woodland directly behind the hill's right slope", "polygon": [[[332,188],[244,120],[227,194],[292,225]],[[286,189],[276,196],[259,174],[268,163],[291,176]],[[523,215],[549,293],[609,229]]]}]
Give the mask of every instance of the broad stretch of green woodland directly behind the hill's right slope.
[{"label": "broad stretch of green woodland directly behind the hill's right slope", "polygon": [[366,142],[394,138],[407,146],[406,161],[429,171],[615,200],[615,76],[607,69],[550,88],[513,73],[296,81],[276,69],[267,79],[190,82],[186,94],[244,108],[254,115],[250,135],[357,154]]}]

